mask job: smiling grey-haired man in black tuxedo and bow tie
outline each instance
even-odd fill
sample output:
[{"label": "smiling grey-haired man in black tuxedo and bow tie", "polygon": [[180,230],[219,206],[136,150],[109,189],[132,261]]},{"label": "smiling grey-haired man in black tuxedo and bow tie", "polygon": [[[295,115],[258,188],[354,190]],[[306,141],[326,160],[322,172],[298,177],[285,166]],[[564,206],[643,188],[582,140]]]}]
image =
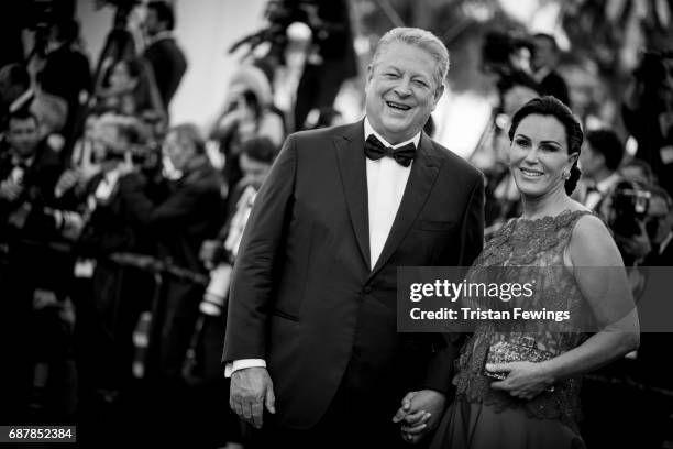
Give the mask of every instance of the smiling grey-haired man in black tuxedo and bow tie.
[{"label": "smiling grey-haired man in black tuxedo and bow tie", "polygon": [[457,348],[396,331],[396,282],[398,266],[468,265],[482,249],[481,173],[422,132],[448,66],[433,34],[386,33],[364,120],[290,135],[257,194],[223,354],[253,446],[396,447],[410,391],[439,419]]}]

